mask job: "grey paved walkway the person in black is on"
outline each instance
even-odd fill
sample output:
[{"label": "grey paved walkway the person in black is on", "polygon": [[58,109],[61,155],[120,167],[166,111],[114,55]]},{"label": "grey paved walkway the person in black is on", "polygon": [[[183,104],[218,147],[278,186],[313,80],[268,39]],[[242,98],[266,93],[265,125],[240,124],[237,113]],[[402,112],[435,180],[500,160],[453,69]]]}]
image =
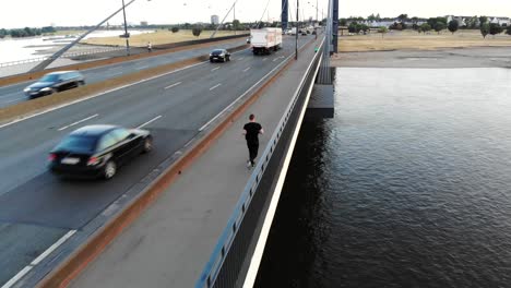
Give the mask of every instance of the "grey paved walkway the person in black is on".
[{"label": "grey paved walkway the person in black is on", "polygon": [[250,177],[241,135],[255,113],[264,151],[313,57],[308,46],[221,137],[71,287],[193,287]]}]

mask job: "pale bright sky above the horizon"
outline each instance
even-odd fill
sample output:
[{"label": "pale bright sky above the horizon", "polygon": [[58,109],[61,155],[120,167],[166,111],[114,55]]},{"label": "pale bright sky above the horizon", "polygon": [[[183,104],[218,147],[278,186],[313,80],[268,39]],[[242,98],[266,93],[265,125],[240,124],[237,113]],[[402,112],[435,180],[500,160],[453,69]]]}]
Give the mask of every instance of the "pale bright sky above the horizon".
[{"label": "pale bright sky above the horizon", "polygon": [[[124,0],[128,3],[130,0]],[[280,19],[282,0],[238,0],[236,19],[241,22]],[[316,19],[317,0],[299,0],[300,17]],[[235,0],[135,0],[127,8],[129,23],[140,24],[177,24],[210,22],[212,14],[226,15]],[[296,0],[289,0],[290,8],[296,11]],[[326,0],[318,0],[318,14],[326,15]],[[0,10],[0,28],[41,27],[41,26],[80,26],[95,25],[122,7],[122,0],[14,0],[7,1]],[[340,17],[364,16],[379,13],[381,16],[397,16],[406,13],[408,16],[439,15],[489,15],[511,16],[510,0],[340,0]],[[296,16],[293,13],[292,20]],[[226,21],[233,20],[230,13]],[[112,17],[110,24],[122,23],[122,13]]]}]

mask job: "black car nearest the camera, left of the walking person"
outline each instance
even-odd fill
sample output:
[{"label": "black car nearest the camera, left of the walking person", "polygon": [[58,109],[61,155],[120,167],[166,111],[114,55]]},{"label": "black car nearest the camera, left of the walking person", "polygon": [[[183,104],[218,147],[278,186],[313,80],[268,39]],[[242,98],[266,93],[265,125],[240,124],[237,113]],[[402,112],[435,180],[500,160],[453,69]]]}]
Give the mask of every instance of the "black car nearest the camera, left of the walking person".
[{"label": "black car nearest the camera, left of the walking person", "polygon": [[71,132],[49,154],[49,170],[58,176],[112,178],[117,168],[153,148],[146,130],[87,125]]}]

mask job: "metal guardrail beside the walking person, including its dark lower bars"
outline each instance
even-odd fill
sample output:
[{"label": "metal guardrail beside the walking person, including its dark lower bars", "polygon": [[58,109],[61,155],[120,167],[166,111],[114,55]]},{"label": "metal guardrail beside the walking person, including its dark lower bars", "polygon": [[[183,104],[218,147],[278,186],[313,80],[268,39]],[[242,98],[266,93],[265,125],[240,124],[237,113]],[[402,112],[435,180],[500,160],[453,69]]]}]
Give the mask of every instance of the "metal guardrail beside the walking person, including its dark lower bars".
[{"label": "metal guardrail beside the walking person, including its dark lower bars", "polygon": [[[323,44],[324,39],[322,41],[321,49],[324,49]],[[255,196],[258,196],[255,194],[255,191],[259,187],[259,183],[261,182],[264,171],[269,167],[269,163],[273,153],[276,149],[278,140],[285,133],[286,124],[289,122],[292,113],[294,112],[298,100],[302,98],[300,96],[302,92],[305,92],[304,88],[306,87],[306,84],[313,84],[313,81],[316,79],[313,71],[316,70],[312,68],[320,63],[319,60],[321,59],[321,49],[314,55],[314,58],[310,62],[306,74],[301,79],[298,89],[296,91],[292,101],[287,106],[275,132],[270,139],[269,144],[266,145],[258,165],[255,166],[250,179],[248,180],[247,185],[245,187],[245,190],[241,193],[241,196],[238,203],[236,204],[230,218],[227,221],[227,226],[222,232],[218,242],[216,243],[213,253],[210,256],[209,262],[206,263],[204,269],[200,275],[200,278],[195,283],[195,288],[235,286],[238,278],[238,274],[241,269],[241,264],[243,263],[246,256],[247,249],[252,240],[252,235],[254,230],[254,227],[252,226],[241,231],[243,220],[246,219],[246,215],[249,213],[249,211],[253,211],[249,209],[252,208],[250,204],[252,203],[252,200],[254,200]],[[264,202],[265,199],[262,201],[259,200],[258,204],[261,203],[262,205],[262,203]],[[258,212],[260,212],[260,209]],[[249,217],[247,217],[247,219]],[[253,221],[257,220],[259,217],[255,216],[251,218],[251,220]],[[249,230],[251,230],[251,232]],[[242,242],[242,245],[235,245],[236,242]],[[235,247],[233,249],[235,250],[235,253],[229,253],[233,251],[233,247]],[[223,266],[228,266],[229,268],[231,267],[235,271],[226,271],[221,275],[221,269]]]}]

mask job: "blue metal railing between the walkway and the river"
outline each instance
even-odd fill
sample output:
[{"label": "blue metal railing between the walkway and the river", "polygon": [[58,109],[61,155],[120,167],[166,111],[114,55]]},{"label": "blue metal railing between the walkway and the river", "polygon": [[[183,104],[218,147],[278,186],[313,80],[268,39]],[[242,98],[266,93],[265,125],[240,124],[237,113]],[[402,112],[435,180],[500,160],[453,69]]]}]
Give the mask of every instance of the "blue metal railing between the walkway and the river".
[{"label": "blue metal railing between the walkway and the river", "polygon": [[[323,47],[323,45],[324,45],[324,39],[322,40],[321,47]],[[224,231],[222,232],[218,239],[218,242],[213,249],[213,253],[211,254],[210,260],[207,261],[204,269],[202,271],[200,278],[197,280],[195,288],[210,288],[214,286],[215,280],[218,276],[218,273],[221,272],[221,268],[224,264],[224,261],[233,245],[233,242],[236,239],[237,232],[239,231],[239,228],[248,211],[248,207],[254,196],[255,190],[262,179],[262,176],[268,167],[268,164],[273,155],[273,152],[275,151],[278,140],[281,139],[284,132],[284,129],[289,120],[289,117],[292,112],[294,111],[295,105],[297,104],[298,98],[301,95],[304,87],[306,86],[307,80],[310,81],[310,79],[313,76],[311,75],[311,73],[313,73],[314,69],[312,68],[314,67],[314,64],[316,65],[319,64],[320,57],[321,57],[321,52],[318,51],[314,55],[312,61],[310,62],[304,77],[301,79],[298,89],[296,91],[295,95],[292,98],[292,101],[287,106],[284,116],[278,122],[277,129],[273,133],[258,165],[255,166],[250,179],[248,180],[247,185],[245,187],[245,190],[241,193],[241,196],[238,203],[236,204],[231,216],[229,217],[227,221],[227,226],[225,227]],[[313,79],[308,84],[312,85]],[[242,256],[245,257],[245,255]],[[230,279],[230,281],[233,281],[233,279],[235,281],[236,277],[230,275],[230,277],[228,278]]]}]

